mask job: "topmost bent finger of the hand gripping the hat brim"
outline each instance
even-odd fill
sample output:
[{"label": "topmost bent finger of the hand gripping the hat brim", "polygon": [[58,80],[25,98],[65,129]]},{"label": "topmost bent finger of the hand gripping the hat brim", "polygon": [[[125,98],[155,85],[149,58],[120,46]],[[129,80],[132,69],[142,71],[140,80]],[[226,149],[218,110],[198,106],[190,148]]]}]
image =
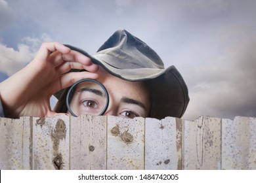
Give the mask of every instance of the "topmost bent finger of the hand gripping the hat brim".
[{"label": "topmost bent finger of the hand gripping the hat brim", "polygon": [[44,42],[41,44],[35,58],[46,60],[52,52],[56,52],[57,50],[62,54],[68,54],[70,52],[70,48],[60,42]]}]

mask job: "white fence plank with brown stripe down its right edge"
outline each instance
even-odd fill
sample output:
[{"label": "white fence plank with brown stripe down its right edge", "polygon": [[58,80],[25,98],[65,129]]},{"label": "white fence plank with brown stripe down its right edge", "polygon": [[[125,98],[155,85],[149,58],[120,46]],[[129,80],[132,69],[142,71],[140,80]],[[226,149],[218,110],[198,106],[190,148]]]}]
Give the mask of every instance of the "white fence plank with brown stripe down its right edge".
[{"label": "white fence plank with brown stripe down its right edge", "polygon": [[183,168],[182,120],[146,118],[145,137],[145,169]]}]

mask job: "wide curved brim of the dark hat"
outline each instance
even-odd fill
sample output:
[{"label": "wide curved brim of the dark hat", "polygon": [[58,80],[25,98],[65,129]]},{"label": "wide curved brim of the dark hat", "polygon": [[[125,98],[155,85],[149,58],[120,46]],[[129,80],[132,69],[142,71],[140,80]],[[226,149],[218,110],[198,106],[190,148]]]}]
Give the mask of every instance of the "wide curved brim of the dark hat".
[{"label": "wide curved brim of the dark hat", "polygon": [[[134,69],[118,69],[108,64],[108,58],[96,54],[91,56],[84,50],[74,46],[65,44],[68,48],[80,52],[81,54],[92,59],[93,63],[102,66],[108,73],[129,81],[146,81],[152,92],[153,104],[152,118],[165,118],[167,116],[181,118],[184,114],[189,102],[188,88],[181,74],[175,68],[170,66],[167,69],[152,68],[134,68]],[[60,93],[56,93],[57,99]]]}]

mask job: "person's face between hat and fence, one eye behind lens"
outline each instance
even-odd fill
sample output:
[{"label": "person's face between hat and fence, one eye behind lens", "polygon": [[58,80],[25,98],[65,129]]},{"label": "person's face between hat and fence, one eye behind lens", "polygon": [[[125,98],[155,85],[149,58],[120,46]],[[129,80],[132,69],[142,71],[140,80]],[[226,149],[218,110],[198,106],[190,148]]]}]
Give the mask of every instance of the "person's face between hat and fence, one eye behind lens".
[{"label": "person's face between hat and fence, one eye behind lens", "polygon": [[[148,117],[150,114],[150,92],[143,82],[129,82],[110,75],[102,67],[99,79],[110,97],[108,109],[104,115],[123,116],[125,118]],[[81,82],[75,89],[70,108],[77,114],[99,114],[106,103],[106,95],[94,82]]]}]

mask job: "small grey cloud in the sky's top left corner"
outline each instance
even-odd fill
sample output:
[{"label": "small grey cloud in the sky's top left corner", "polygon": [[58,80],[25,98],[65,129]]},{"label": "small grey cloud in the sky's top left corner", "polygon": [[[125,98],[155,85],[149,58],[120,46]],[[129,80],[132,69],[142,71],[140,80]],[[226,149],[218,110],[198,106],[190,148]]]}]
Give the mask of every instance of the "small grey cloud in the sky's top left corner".
[{"label": "small grey cloud in the sky's top left corner", "polygon": [[5,0],[0,0],[0,31],[15,22],[15,13]]}]

